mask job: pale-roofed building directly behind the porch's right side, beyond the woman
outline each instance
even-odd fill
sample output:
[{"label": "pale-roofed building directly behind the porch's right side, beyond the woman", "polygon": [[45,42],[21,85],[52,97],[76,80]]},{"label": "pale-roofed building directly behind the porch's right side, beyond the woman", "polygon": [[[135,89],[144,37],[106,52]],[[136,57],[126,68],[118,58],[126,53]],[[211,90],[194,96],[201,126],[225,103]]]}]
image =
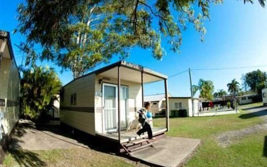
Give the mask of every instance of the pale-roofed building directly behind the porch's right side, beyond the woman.
[{"label": "pale-roofed building directly behind the porch's right side, beyond the woman", "polygon": [[[168,97],[172,95],[168,94]],[[156,115],[165,115],[165,93],[155,94],[155,95],[146,95],[144,96],[144,102],[151,103],[150,111]]]}]

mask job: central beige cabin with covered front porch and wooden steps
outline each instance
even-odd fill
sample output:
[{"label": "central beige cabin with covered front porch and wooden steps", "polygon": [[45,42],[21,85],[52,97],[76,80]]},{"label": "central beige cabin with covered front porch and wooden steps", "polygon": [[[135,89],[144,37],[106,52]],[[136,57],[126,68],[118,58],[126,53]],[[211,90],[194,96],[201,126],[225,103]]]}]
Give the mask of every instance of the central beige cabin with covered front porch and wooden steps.
[{"label": "central beige cabin with covered front porch and wooden steps", "polygon": [[[78,77],[63,87],[60,97],[60,124],[106,141],[117,143],[120,152],[131,154],[151,141],[145,133],[139,137],[137,110],[144,103],[144,84],[167,76],[140,65],[119,61]],[[165,103],[166,126],[153,127],[155,139],[169,129],[168,100]]]}]

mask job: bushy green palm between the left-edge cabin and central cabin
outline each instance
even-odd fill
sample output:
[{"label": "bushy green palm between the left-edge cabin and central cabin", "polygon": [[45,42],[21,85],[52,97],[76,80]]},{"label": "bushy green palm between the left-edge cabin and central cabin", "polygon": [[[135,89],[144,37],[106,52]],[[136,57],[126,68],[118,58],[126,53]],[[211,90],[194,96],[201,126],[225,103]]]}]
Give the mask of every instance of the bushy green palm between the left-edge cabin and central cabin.
[{"label": "bushy green palm between the left-edge cabin and central cabin", "polygon": [[61,82],[53,69],[49,67],[31,67],[24,69],[21,79],[23,115],[38,118],[48,111],[60,92]]}]

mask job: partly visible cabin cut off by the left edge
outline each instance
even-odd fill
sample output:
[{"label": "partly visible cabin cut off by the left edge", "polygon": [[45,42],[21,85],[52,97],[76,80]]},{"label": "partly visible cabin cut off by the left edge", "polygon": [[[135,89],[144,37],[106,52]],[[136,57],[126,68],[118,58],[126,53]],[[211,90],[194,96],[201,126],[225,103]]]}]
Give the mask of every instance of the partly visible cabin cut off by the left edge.
[{"label": "partly visible cabin cut off by the left edge", "polygon": [[0,163],[19,120],[19,85],[20,74],[10,34],[0,30]]}]

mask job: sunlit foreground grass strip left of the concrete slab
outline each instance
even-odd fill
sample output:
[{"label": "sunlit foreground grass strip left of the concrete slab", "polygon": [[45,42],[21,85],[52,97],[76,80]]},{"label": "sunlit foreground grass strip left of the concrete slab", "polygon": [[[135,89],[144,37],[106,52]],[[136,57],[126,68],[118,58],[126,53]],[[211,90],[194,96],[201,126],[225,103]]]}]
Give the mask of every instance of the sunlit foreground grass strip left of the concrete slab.
[{"label": "sunlit foreground grass strip left of the concrete slab", "polygon": [[92,149],[10,150],[4,166],[55,166],[55,167],[123,167],[145,166],[126,158]]}]

